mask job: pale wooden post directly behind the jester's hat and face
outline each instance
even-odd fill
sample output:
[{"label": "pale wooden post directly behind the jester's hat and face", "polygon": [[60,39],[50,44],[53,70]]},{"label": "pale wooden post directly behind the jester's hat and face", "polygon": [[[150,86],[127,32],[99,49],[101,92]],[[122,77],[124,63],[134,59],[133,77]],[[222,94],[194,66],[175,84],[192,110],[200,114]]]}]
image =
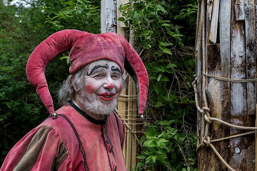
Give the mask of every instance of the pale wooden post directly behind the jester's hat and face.
[{"label": "pale wooden post directly behind the jester's hat and face", "polygon": [[[118,10],[121,4],[128,3],[128,0],[101,0],[101,32],[116,32],[123,37],[127,37],[125,32],[124,23],[117,21],[117,18],[121,17]],[[132,33],[132,30],[130,30]],[[133,36],[128,36],[130,44],[133,46]],[[123,78],[127,75],[127,72],[123,74]],[[136,169],[136,152],[137,142],[134,136],[136,132],[136,118],[137,118],[137,97],[136,85],[132,78],[129,76],[128,84],[123,87],[123,91],[118,99],[117,111],[121,120],[123,119],[125,124],[125,143],[123,146],[123,156],[126,162],[127,170]]]}]

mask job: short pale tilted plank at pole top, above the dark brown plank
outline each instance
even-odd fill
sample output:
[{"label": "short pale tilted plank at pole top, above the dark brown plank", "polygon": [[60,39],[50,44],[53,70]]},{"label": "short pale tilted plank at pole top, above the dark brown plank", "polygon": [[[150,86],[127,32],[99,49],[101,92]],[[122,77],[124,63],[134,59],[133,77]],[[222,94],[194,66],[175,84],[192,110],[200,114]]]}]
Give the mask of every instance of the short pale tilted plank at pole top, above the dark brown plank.
[{"label": "short pale tilted plank at pole top, above the dark brown plank", "polygon": [[214,44],[216,43],[216,39],[217,39],[219,8],[220,8],[220,0],[214,0],[213,7],[212,7],[212,20],[211,20],[210,36],[209,36],[209,40]]}]

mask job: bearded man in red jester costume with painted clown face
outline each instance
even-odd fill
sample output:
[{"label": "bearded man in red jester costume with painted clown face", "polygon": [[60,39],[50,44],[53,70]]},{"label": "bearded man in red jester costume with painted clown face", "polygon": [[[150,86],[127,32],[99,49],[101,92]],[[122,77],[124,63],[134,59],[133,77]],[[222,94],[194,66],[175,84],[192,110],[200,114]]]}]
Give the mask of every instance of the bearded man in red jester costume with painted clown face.
[{"label": "bearded man in red jester costume with painted clown face", "polygon": [[[71,75],[59,90],[63,106],[55,111],[44,71],[55,56],[67,50]],[[122,154],[125,129],[113,112],[124,69],[137,85],[138,111],[143,115],[148,74],[125,38],[113,32],[62,30],[39,44],[29,57],[26,72],[52,117],[11,149],[1,171],[127,170]]]}]

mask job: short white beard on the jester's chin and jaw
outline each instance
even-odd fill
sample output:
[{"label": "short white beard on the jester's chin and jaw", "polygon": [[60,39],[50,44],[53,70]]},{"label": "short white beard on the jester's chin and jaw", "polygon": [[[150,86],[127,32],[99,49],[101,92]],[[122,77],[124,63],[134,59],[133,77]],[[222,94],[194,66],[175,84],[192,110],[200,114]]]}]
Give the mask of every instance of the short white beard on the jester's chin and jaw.
[{"label": "short white beard on the jester's chin and jaw", "polygon": [[106,101],[99,98],[94,98],[92,101],[88,101],[81,95],[78,97],[79,103],[83,105],[84,109],[88,113],[92,113],[101,117],[109,115],[113,112],[118,105],[118,96],[114,95],[113,99]]}]

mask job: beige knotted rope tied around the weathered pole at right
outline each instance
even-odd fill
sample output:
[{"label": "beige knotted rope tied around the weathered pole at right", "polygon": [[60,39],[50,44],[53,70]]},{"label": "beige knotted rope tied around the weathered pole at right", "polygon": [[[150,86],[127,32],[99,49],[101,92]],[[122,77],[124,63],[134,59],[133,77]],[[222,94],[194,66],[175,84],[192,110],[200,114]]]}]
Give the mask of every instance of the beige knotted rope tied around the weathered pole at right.
[{"label": "beige knotted rope tied around the weathered pole at right", "polygon": [[[201,32],[202,32],[202,75],[201,75],[200,78],[202,78],[202,94],[203,94],[204,107],[201,108],[200,105],[199,105],[196,75],[194,76],[195,80],[192,82],[192,86],[194,87],[196,108],[202,115],[204,115],[204,119],[206,121],[206,124],[205,124],[204,137],[202,138],[201,143],[198,145],[196,151],[198,151],[204,145],[206,145],[208,147],[211,147],[212,150],[215,152],[215,154],[220,159],[220,161],[229,170],[235,171],[231,166],[229,166],[229,164],[224,160],[224,158],[222,158],[222,156],[219,154],[219,152],[216,150],[216,148],[212,145],[212,142],[223,141],[223,140],[227,140],[227,139],[232,139],[232,138],[236,138],[236,137],[256,133],[257,132],[257,127],[243,127],[243,126],[233,125],[231,123],[222,121],[221,119],[210,117],[210,113],[209,113],[210,109],[208,107],[207,97],[206,97],[206,76],[212,77],[212,78],[215,78],[215,79],[218,79],[218,80],[233,81],[233,82],[256,82],[257,78],[256,79],[251,79],[251,80],[236,80],[236,79],[223,78],[223,77],[212,76],[212,75],[206,74],[206,48],[205,48],[206,47],[206,44],[205,44],[205,38],[206,38],[205,37],[205,35],[206,35],[205,34],[205,20],[206,20],[206,15],[205,15],[205,4],[206,4],[206,0],[198,0],[197,26],[196,26],[196,29],[197,29],[196,30],[196,46],[197,46],[199,20],[200,20],[200,10],[202,10],[202,13],[201,13],[202,14],[202,27],[201,27]],[[200,6],[201,6],[201,8],[200,8]],[[198,81],[200,82],[200,80],[198,80]],[[238,134],[238,135],[234,135],[234,136],[230,136],[230,137],[224,137],[224,138],[220,138],[220,139],[211,140],[210,136],[209,136],[209,126],[213,121],[216,121],[216,122],[219,122],[223,125],[227,125],[229,127],[240,129],[240,130],[254,130],[254,131],[246,132],[246,133],[242,133],[242,134]]]}]

